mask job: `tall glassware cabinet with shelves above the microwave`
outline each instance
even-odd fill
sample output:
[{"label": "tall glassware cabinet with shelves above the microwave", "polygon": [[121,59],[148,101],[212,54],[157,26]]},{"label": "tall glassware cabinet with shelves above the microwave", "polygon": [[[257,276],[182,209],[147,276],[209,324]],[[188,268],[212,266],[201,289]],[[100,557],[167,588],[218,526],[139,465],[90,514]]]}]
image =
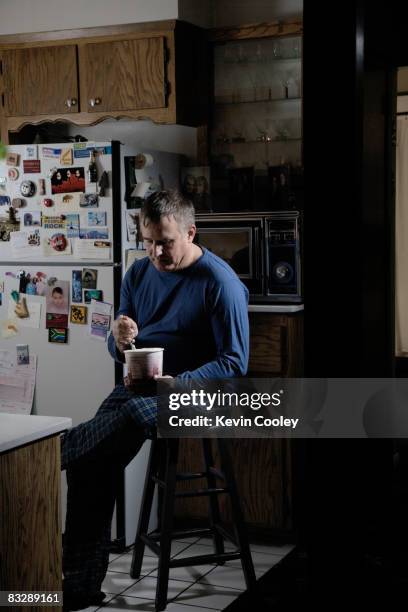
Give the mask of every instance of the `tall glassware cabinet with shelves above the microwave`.
[{"label": "tall glassware cabinet with shelves above the microwave", "polygon": [[302,28],[214,42],[214,211],[302,208]]}]

